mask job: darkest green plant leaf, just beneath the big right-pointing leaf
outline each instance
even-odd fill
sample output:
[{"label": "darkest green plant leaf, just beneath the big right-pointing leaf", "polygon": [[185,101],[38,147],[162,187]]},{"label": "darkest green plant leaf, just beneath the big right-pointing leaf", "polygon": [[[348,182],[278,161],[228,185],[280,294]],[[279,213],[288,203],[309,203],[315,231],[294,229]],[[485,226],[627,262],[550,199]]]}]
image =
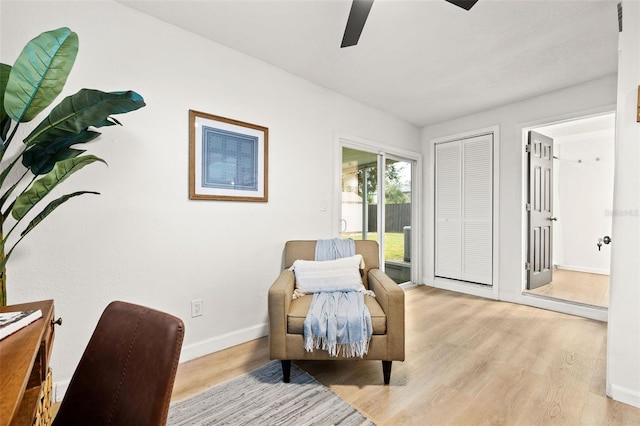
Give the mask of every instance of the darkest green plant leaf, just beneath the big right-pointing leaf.
[{"label": "darkest green plant leaf, just beneath the big right-pointing leaf", "polygon": [[36,176],[49,173],[58,161],[77,157],[85,152],[70,148],[72,145],[92,141],[99,135],[99,132],[83,130],[77,135],[71,135],[53,142],[31,145],[22,154],[22,165],[31,170],[31,173]]}]

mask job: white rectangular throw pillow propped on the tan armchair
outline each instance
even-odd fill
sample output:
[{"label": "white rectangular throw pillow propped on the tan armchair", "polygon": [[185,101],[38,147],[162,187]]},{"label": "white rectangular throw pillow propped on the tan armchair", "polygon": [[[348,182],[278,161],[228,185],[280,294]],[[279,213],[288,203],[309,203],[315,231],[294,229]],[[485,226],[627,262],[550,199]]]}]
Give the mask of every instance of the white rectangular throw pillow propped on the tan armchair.
[{"label": "white rectangular throw pillow propped on the tan armchair", "polygon": [[296,260],[290,269],[295,274],[298,293],[364,291],[361,264],[362,255],[356,254],[336,260]]}]

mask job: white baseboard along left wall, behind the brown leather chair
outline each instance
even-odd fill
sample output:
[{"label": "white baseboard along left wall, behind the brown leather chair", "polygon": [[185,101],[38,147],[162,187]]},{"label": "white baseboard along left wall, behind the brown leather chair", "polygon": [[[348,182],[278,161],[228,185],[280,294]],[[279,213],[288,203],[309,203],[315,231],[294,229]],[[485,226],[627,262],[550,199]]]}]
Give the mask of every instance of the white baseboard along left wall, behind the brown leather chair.
[{"label": "white baseboard along left wall, behind the brown leather chair", "polygon": [[[180,362],[189,361],[201,356],[209,355],[250,340],[259,339],[268,334],[268,324],[259,324],[253,327],[247,327],[231,333],[216,336],[211,339],[193,343],[189,346],[183,346],[180,352]],[[53,383],[53,400],[54,402],[62,401],[71,379],[62,380]]]}]

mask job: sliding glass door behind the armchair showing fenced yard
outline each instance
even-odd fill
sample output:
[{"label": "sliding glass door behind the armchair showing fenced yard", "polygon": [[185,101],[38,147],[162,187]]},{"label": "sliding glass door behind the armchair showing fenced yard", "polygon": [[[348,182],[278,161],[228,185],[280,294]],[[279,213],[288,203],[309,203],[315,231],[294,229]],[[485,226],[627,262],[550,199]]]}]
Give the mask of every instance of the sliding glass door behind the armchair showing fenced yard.
[{"label": "sliding glass door behind the armchair showing fenced yard", "polygon": [[341,155],[341,237],[378,241],[386,274],[412,282],[415,160],[348,146]]}]

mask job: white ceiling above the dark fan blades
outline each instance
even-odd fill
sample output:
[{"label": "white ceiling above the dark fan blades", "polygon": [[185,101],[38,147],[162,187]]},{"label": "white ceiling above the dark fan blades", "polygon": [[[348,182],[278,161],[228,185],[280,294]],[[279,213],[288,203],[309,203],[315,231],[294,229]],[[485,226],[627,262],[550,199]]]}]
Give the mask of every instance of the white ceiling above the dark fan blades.
[{"label": "white ceiling above the dark fan blades", "polygon": [[425,126],[617,72],[615,0],[376,0],[341,49],[350,0],[118,0]]}]

